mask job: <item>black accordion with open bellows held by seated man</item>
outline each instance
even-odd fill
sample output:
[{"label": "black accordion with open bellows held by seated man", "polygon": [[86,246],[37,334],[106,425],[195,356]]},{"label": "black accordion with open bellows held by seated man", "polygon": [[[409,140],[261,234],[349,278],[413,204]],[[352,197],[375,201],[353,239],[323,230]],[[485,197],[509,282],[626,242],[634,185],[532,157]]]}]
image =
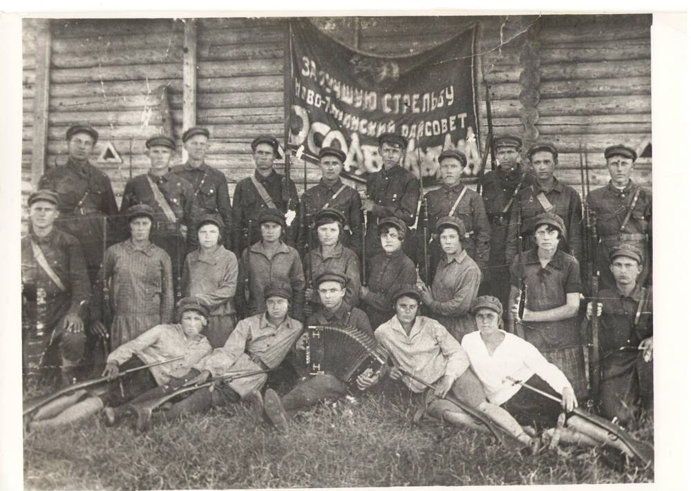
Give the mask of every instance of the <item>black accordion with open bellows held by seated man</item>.
[{"label": "black accordion with open bellows held by seated man", "polygon": [[307,326],[305,362],[311,375],[329,373],[346,384],[371,368],[386,365],[388,354],[371,334],[357,327]]}]

